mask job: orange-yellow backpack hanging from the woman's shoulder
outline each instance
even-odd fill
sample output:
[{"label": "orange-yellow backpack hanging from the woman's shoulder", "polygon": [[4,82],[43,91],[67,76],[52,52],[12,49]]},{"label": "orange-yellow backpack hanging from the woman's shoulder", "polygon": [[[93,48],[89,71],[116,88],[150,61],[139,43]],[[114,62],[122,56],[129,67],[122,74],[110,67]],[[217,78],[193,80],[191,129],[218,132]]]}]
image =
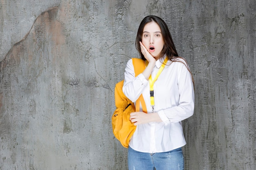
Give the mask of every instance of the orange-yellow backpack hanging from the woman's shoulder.
[{"label": "orange-yellow backpack hanging from the woman's shoulder", "polygon": [[[142,73],[146,68],[144,60],[139,58],[132,58],[132,64],[134,66],[135,77]],[[130,99],[128,99],[123,93],[124,80],[118,82],[115,86],[115,105],[116,110],[112,115],[112,129],[115,137],[120,141],[122,146],[128,148],[130,138],[136,130],[136,126],[130,121],[130,113],[139,111],[141,104],[144,113],[147,113],[146,104],[142,94],[136,100],[135,105]]]}]

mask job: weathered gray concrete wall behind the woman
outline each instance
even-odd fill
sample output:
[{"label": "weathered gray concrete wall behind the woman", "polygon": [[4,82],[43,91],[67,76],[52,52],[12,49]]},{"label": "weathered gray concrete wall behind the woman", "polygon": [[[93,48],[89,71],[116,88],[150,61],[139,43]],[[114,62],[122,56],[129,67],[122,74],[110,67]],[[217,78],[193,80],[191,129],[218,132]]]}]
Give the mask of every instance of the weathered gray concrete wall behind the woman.
[{"label": "weathered gray concrete wall behind the woman", "polygon": [[1,0],[0,170],[127,169],[114,88],[149,14],[195,79],[185,169],[256,169],[255,0]]}]

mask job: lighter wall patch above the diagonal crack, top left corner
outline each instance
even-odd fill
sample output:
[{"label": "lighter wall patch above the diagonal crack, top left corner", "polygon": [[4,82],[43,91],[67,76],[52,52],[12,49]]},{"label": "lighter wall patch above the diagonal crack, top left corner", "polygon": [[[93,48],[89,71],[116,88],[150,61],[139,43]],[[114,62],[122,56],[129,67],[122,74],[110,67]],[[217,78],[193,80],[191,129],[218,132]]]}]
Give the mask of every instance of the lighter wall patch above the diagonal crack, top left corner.
[{"label": "lighter wall patch above the diagonal crack, top left corner", "polygon": [[1,0],[0,2],[0,61],[11,47],[22,40],[36,18],[61,0]]}]

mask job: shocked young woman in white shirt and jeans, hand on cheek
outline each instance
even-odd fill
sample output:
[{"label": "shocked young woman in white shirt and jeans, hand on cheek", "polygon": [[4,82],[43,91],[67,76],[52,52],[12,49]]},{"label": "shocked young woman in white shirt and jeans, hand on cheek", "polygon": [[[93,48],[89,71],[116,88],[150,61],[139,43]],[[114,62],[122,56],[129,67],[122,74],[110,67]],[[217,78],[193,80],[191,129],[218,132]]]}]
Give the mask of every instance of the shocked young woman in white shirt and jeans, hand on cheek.
[{"label": "shocked young woman in white shirt and jeans, hand on cheek", "polygon": [[132,60],[128,61],[123,92],[132,102],[142,93],[148,114],[130,114],[137,128],[128,148],[129,170],[183,170],[181,147],[186,141],[181,121],[194,111],[189,66],[178,57],[166,23],[157,16],[141,21],[136,48],[147,66],[135,77]]}]

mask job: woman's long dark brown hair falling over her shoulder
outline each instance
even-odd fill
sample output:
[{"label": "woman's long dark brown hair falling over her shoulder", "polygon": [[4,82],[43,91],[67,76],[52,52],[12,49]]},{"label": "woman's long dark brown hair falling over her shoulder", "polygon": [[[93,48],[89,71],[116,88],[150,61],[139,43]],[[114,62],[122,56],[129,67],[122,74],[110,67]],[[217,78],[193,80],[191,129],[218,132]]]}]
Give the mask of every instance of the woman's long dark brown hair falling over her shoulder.
[{"label": "woman's long dark brown hair falling over her shoulder", "polygon": [[[173,43],[173,38],[171,36],[171,33],[168,29],[168,26],[166,25],[166,23],[164,22],[164,20],[162,20],[161,18],[154,16],[154,15],[149,15],[146,16],[141,23],[139,24],[139,29],[137,32],[137,36],[136,36],[136,41],[135,41],[135,46],[137,51],[139,51],[140,57],[142,60],[146,60],[146,58],[144,57],[144,55],[141,53],[141,48],[140,48],[140,44],[139,42],[142,42],[142,34],[143,34],[143,29],[144,26],[146,24],[148,24],[149,22],[155,22],[159,25],[160,29],[161,29],[161,33],[164,39],[164,47],[161,51],[161,57],[164,56],[166,54],[166,56],[168,57],[169,60],[173,61],[173,62],[181,62],[180,60],[178,60],[179,57],[176,49],[175,49],[175,45]],[[185,62],[186,60],[184,58],[182,58]],[[183,63],[183,62],[182,62]],[[184,64],[184,63],[183,63]],[[194,80],[193,80],[193,76],[192,73],[188,67],[188,64],[186,62],[186,64],[184,64],[186,66],[186,68],[188,69],[188,71],[191,74],[192,77],[192,82],[193,82],[193,86],[194,86]]]}]

